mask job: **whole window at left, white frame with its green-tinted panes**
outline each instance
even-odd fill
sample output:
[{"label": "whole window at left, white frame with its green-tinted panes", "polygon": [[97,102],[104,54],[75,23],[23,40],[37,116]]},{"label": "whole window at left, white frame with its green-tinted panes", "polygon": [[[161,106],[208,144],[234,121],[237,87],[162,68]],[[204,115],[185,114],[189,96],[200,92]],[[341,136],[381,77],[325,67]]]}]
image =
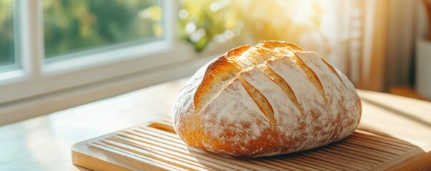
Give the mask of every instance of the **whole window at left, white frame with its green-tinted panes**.
[{"label": "whole window at left, white frame with its green-tinted panes", "polygon": [[172,56],[175,5],[0,0],[0,106],[190,58]]}]

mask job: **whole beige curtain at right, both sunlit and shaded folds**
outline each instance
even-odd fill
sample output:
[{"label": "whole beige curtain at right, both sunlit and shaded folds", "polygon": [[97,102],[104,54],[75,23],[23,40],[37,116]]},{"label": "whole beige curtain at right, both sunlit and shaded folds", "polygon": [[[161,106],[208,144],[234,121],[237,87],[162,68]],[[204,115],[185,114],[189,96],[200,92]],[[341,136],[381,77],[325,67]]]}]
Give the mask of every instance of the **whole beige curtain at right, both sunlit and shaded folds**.
[{"label": "whole beige curtain at right, both sunlit and shaded folds", "polygon": [[360,58],[357,61],[351,58],[350,63],[350,67],[359,66],[355,85],[376,91],[411,85],[416,1],[365,0],[357,3],[363,14],[363,36]]}]

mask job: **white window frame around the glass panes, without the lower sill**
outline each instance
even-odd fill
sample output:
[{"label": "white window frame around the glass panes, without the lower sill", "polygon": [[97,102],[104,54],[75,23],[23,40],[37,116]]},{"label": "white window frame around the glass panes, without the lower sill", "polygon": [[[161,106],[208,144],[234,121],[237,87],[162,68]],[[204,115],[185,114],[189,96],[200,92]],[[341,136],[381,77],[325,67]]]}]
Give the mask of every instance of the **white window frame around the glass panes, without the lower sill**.
[{"label": "white window frame around the glass panes, without the lower sill", "polygon": [[[125,76],[193,56],[175,56],[174,29],[177,2],[161,1],[164,36],[160,41],[124,48],[106,48],[72,53],[79,56],[55,63],[44,63],[44,30],[42,0],[16,0],[14,17],[19,23],[14,31],[19,37],[16,55],[21,67],[0,73],[0,106],[35,95],[82,86],[109,78]],[[160,59],[163,60],[160,60]]]}]

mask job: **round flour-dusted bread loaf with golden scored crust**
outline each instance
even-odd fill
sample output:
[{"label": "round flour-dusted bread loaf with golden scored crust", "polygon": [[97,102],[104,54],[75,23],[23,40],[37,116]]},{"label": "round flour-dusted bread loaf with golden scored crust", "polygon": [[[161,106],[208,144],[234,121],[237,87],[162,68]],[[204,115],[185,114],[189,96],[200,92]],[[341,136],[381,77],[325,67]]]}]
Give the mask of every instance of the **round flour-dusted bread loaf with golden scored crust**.
[{"label": "round flour-dusted bread loaf with golden scored crust", "polygon": [[259,157],[342,140],[360,117],[355,87],[324,58],[262,41],[200,68],[180,91],[172,120],[188,145]]}]

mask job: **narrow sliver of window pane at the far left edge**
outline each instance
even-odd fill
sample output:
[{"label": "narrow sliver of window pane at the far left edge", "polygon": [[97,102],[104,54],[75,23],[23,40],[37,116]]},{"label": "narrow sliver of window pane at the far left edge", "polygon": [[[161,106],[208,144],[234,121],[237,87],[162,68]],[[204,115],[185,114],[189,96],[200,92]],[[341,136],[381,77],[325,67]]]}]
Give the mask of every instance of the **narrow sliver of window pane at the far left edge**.
[{"label": "narrow sliver of window pane at the far left edge", "polygon": [[0,67],[15,63],[12,0],[0,0]]}]

